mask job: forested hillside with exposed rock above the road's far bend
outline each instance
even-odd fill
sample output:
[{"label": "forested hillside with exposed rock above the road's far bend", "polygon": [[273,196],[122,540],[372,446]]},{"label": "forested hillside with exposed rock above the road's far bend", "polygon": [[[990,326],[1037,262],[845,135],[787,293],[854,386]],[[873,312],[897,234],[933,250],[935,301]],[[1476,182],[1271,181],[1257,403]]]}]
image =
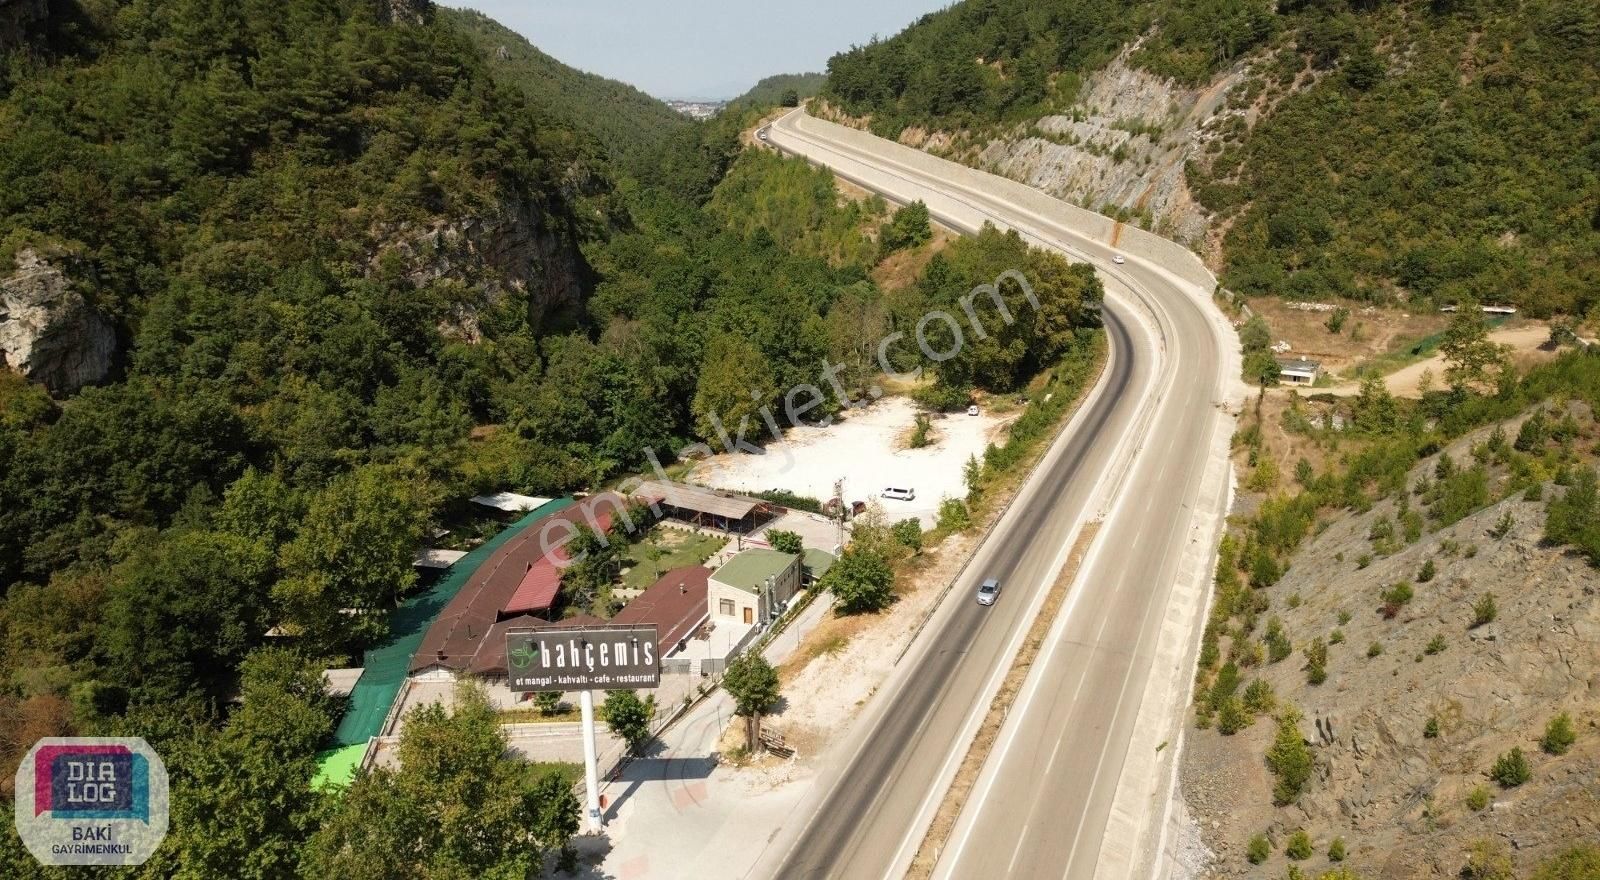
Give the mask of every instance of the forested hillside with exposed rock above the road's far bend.
[{"label": "forested hillside with exposed rock above the road's far bend", "polygon": [[[1192,138],[1179,163],[1222,234],[1206,256],[1250,294],[1586,314],[1600,291],[1597,42],[1587,0],[968,0],[835,56],[824,96],[885,136],[1064,146],[1064,162]],[[1083,104],[1118,51],[1173,90],[1218,83],[1226,102],[1192,130],[1142,118],[1138,90],[1102,90],[1130,107]],[[1082,120],[1107,115],[1085,141]],[[1070,197],[1099,208],[1086,186]],[[1139,218],[1149,194],[1123,192],[1117,208]]]}]

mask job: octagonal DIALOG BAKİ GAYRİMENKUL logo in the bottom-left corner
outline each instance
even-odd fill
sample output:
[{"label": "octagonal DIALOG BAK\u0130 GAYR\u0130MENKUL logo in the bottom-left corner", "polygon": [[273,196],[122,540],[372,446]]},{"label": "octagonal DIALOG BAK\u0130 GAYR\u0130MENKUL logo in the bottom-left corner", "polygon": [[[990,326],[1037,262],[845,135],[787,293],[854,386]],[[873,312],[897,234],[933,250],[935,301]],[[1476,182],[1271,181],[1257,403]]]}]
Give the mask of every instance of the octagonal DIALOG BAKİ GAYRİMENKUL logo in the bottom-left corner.
[{"label": "octagonal DIALOG BAK\u0130 GAYR\u0130MENKUL logo in the bottom-left corner", "polygon": [[16,830],[43,864],[142,864],[166,810],[166,765],[139,738],[45,738],[16,768]]}]

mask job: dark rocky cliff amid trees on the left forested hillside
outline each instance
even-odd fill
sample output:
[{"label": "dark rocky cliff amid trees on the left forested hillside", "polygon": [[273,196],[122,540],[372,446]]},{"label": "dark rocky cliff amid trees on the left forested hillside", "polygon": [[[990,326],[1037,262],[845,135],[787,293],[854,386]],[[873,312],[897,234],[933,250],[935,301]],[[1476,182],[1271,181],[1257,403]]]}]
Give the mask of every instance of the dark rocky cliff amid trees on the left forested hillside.
[{"label": "dark rocky cliff amid trees on the left forested hillside", "polygon": [[[552,227],[549,214],[525,200],[470,218],[440,218],[427,224],[398,224],[378,230],[370,269],[398,259],[400,272],[416,286],[458,280],[494,302],[509,291],[528,298],[528,322],[538,326],[550,312],[582,299],[586,264],[570,237]],[[448,328],[475,341],[470,310]]]}]

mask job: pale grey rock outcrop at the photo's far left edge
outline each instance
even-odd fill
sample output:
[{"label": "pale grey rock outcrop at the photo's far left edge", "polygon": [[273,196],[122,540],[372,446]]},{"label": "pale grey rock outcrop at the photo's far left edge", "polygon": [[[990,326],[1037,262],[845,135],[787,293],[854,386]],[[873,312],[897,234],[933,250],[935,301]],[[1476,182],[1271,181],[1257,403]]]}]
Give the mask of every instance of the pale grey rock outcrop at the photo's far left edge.
[{"label": "pale grey rock outcrop at the photo's far left edge", "polygon": [[110,373],[117,333],[72,280],[34,248],[0,278],[0,358],[51,394],[72,394]]}]

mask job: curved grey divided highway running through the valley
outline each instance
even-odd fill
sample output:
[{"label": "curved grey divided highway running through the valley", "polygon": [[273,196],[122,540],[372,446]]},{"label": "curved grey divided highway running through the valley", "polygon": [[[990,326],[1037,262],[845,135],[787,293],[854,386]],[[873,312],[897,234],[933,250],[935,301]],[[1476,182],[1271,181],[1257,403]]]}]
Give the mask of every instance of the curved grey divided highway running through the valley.
[{"label": "curved grey divided highway running through the valley", "polygon": [[[1147,682],[1190,669],[1189,637],[1176,643],[1173,632],[1197,635],[1203,603],[1176,630],[1163,622],[1195,558],[1205,582],[1210,547],[1202,544],[1214,536],[1194,531],[1197,510],[1210,522],[1226,506],[1226,491],[1214,490],[1216,469],[1226,467],[1226,443],[1219,450],[1216,438],[1227,437],[1222,402],[1234,362],[1226,330],[1208,314],[1210,290],[1155,259],[1128,254],[1115,264],[1118,251],[1080,234],[1082,218],[1069,206],[1042,206],[1038,194],[1019,195],[1011,181],[800,110],[771,125],[766,139],[891,200],[920,198],[955,229],[992,222],[1094,262],[1107,283],[1110,363],[754,874],[904,874],[1078,530],[1104,520],[936,875],[1128,877],[1149,864],[1154,846],[1144,837],[1162,819],[1136,818],[1138,832],[1112,819],[1123,771],[1133,766],[1130,778],[1144,782],[1138,770],[1154,758],[1130,765],[1134,720]],[[1006,589],[982,608],[973,590],[990,576]],[[1174,651],[1178,662],[1157,662]],[[1174,702],[1181,714],[1181,696]]]}]

